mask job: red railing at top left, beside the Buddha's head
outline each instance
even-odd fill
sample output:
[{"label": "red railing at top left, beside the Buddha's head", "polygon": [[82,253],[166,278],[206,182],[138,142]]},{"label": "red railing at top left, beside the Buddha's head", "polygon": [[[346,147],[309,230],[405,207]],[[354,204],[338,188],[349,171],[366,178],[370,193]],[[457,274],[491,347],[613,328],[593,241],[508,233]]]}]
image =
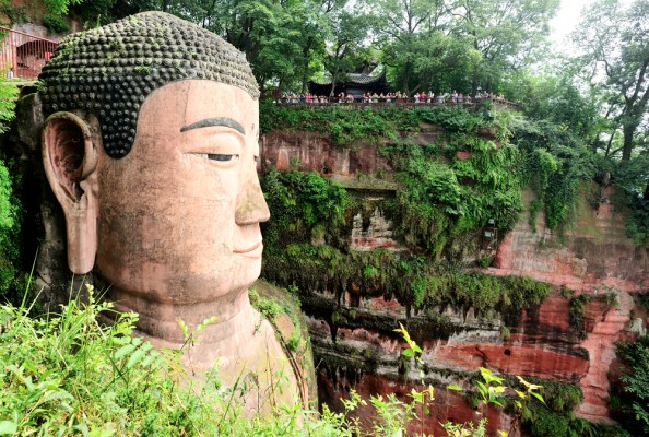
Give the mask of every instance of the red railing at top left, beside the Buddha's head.
[{"label": "red railing at top left, beside the Buddha's head", "polygon": [[0,26],[0,71],[7,78],[36,79],[58,43]]}]

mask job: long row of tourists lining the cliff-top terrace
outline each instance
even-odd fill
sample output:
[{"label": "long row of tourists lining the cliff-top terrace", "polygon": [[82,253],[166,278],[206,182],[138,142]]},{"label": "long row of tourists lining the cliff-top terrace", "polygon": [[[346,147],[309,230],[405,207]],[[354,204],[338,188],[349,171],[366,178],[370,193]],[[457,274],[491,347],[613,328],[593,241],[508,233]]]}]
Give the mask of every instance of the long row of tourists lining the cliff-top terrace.
[{"label": "long row of tourists lining the cliff-top terrace", "polygon": [[455,90],[451,93],[435,94],[433,91],[422,91],[408,95],[397,91],[394,93],[365,93],[363,95],[353,95],[339,93],[334,96],[323,96],[308,94],[284,93],[275,98],[275,103],[306,103],[306,104],[321,104],[321,103],[437,103],[437,104],[460,104],[460,103],[475,103],[482,99],[491,99],[494,102],[505,102],[503,94],[494,94],[488,91],[479,91],[474,96],[470,94],[458,93]]}]

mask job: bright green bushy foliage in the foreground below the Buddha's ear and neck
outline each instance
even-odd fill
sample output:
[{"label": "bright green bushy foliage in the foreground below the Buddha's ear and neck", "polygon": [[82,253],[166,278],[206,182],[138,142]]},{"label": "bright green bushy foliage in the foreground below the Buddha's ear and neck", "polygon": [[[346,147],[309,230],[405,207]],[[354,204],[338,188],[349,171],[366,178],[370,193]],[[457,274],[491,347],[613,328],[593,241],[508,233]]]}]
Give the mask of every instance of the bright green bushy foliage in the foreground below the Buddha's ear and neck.
[{"label": "bright green bushy foliage in the foreground below the Buddha's ear and neck", "polygon": [[326,406],[320,418],[297,406],[245,418],[243,387],[222,387],[215,371],[192,383],[178,351],[133,336],[135,315],[101,324],[111,305],[90,296],[45,318],[0,306],[0,435],[352,436]]}]

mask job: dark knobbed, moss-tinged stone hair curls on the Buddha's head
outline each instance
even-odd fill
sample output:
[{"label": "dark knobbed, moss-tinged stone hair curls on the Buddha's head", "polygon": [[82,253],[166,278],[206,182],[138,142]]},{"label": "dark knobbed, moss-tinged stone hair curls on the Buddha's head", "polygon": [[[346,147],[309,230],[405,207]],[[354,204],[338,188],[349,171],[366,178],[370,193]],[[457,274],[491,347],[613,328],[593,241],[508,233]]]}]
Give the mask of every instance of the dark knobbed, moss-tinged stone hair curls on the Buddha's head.
[{"label": "dark knobbed, moss-tinged stone hair curls on the Buddha's head", "polygon": [[106,154],[126,156],[140,106],[169,82],[205,79],[259,90],[244,54],[223,38],[164,12],[143,12],[66,38],[45,66],[44,115],[84,110],[102,127]]}]

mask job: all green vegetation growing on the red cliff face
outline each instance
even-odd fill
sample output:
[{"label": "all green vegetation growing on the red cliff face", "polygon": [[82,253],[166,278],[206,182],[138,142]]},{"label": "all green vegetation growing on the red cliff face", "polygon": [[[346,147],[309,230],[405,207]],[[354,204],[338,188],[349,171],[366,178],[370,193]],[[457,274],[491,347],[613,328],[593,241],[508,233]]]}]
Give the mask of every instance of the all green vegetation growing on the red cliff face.
[{"label": "all green vegetation growing on the red cliff face", "polygon": [[[487,221],[496,221],[503,237],[523,209],[521,190],[527,186],[539,199],[530,205],[534,210],[530,220],[535,221],[542,210],[545,226],[562,233],[573,217],[578,187],[601,181],[611,169],[610,163],[592,154],[559,125],[488,108],[470,113],[457,107],[388,107],[354,113],[344,107],[269,105],[268,119],[264,116],[263,120],[272,129],[321,132],[338,145],[374,143],[394,172],[390,181],[397,186],[394,197],[390,200],[388,196],[381,205],[392,221],[401,249],[408,250],[351,250],[352,217],[361,215],[365,221],[376,205],[357,190],[345,190],[317,173],[270,169],[262,178],[273,216],[263,225],[267,235],[272,236],[263,263],[266,277],[296,285],[305,302],[330,322],[333,331],[338,327],[363,327],[387,336],[390,323],[362,309],[335,304],[323,307],[321,299],[308,296],[308,291],[334,292],[337,302],[342,293],[347,293],[352,302],[381,295],[397,298],[409,315],[418,317],[439,315],[447,306],[473,308],[482,317],[499,314],[506,322],[508,315],[547,296],[547,284],[527,277],[467,271],[472,262],[480,264],[481,255],[485,255],[482,234]],[[432,129],[436,132],[433,143],[413,140]],[[363,133],[356,137],[354,132]],[[299,163],[295,163],[294,168],[298,167]],[[388,176],[362,177],[376,178],[378,182],[371,187],[380,187],[380,180]],[[310,182],[308,190],[300,182],[305,179]],[[314,186],[321,192],[335,193],[331,199],[338,203],[323,204],[326,208],[318,213],[320,221],[312,212],[318,208]],[[599,204],[597,190],[590,200],[593,206]],[[308,205],[305,211],[302,204]],[[576,298],[570,306],[570,321],[578,334],[583,332],[583,299]],[[452,332],[439,317],[430,323],[426,327],[436,338]],[[411,328],[416,335],[416,323]],[[335,347],[344,350],[343,345]],[[354,355],[353,351],[347,353]],[[364,362],[368,371],[377,365],[374,356],[366,356]],[[617,427],[576,418],[573,410],[582,401],[577,386],[538,382],[548,386],[543,391],[548,404],[532,402],[521,412],[530,435],[626,435]]]}]

